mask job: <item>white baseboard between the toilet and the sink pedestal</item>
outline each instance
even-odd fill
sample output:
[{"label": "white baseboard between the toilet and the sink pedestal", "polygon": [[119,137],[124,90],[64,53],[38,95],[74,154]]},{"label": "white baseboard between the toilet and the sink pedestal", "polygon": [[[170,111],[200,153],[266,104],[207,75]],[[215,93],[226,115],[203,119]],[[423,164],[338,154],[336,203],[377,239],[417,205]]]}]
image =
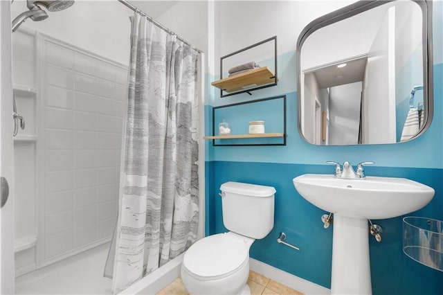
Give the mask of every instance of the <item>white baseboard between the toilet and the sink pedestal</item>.
[{"label": "white baseboard between the toilet and the sink pedestal", "polygon": [[289,274],[286,271],[272,267],[271,265],[266,265],[266,263],[249,258],[249,269],[255,271],[258,274],[262,274],[275,282],[282,283],[287,287],[296,289],[303,294],[331,294],[331,290],[323,286],[317,285],[316,283],[309,282],[293,274]]}]

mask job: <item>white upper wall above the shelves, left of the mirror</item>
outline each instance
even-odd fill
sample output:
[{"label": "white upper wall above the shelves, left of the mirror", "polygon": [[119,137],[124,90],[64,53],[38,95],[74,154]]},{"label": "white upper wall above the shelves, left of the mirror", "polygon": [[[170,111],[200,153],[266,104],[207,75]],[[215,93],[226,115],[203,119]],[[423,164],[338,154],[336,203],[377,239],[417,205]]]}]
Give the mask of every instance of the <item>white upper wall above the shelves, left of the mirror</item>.
[{"label": "white upper wall above the shelves, left of the mirror", "polygon": [[[295,51],[310,21],[355,1],[219,1],[215,32],[219,56],[277,35],[278,54]],[[269,57],[272,53],[269,54]],[[215,74],[219,73],[217,67]]]}]

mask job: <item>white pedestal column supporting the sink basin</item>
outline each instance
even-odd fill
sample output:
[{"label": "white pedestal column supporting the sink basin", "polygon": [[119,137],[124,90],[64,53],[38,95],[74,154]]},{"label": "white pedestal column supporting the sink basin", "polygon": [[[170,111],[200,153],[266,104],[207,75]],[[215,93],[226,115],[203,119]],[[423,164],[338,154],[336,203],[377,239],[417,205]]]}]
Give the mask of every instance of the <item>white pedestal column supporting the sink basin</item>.
[{"label": "white pedestal column supporting the sink basin", "polygon": [[331,294],[372,294],[368,220],[334,214]]}]

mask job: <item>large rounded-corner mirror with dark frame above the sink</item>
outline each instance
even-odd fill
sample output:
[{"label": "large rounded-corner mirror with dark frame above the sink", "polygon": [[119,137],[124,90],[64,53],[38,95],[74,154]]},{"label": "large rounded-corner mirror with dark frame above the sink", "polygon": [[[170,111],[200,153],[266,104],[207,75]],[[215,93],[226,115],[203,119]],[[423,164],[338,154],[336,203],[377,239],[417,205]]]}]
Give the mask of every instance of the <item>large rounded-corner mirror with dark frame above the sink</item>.
[{"label": "large rounded-corner mirror with dark frame above the sink", "polygon": [[314,145],[400,143],[433,116],[432,1],[359,1],[297,42],[298,130]]}]

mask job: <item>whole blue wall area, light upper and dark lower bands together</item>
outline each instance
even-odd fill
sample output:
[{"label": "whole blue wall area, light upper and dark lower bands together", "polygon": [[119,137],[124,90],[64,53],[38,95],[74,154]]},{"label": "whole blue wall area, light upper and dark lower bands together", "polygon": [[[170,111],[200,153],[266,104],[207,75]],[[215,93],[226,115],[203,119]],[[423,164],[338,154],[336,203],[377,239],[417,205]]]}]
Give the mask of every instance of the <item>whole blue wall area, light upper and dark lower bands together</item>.
[{"label": "whole blue wall area, light upper and dark lower bands together", "polygon": [[[314,146],[303,141],[297,129],[297,93],[294,91],[295,51],[278,56],[280,77],[277,87],[218,98],[218,91],[206,98],[206,131],[212,132],[212,107],[233,102],[287,95],[287,145],[213,147],[206,142],[206,235],[226,231],[221,218],[219,186],[225,181],[243,181],[274,186],[275,225],[264,239],[251,247],[251,257],[330,287],[332,228],[323,229],[325,212],[305,201],[293,188],[292,179],[305,173],[332,173],[328,160],[375,161],[367,175],[406,177],[435,189],[433,201],[410,215],[443,220],[443,5],[434,1],[434,116],[431,127],[419,138],[395,145]],[[276,20],[277,21],[277,20]],[[284,32],[278,32],[283,34]],[[263,39],[269,36],[263,36]],[[216,79],[208,77],[210,81]],[[406,257],[401,251],[401,217],[377,220],[383,227],[381,243],[370,239],[372,289],[374,294],[443,294],[443,273]],[[294,251],[276,242],[278,233],[287,233]]]}]

